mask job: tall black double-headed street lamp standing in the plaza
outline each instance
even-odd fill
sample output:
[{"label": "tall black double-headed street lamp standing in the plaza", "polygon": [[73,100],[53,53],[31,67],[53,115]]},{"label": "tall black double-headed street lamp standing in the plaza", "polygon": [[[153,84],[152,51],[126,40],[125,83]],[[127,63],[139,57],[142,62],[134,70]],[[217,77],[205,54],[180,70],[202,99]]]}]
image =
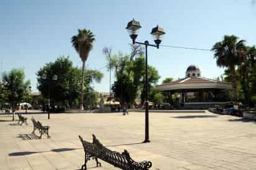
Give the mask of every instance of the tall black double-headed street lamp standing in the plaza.
[{"label": "tall black double-headed street lamp standing in the plaza", "polygon": [[152,47],[157,47],[159,48],[159,44],[162,42],[163,35],[165,34],[163,28],[159,27],[158,25],[156,27],[153,27],[152,31],[150,34],[152,34],[155,45],[152,45],[149,43],[149,41],[145,41],[144,43],[142,42],[136,42],[136,38],[138,37],[139,34],[139,29],[141,28],[140,22],[132,19],[130,22],[127,24],[127,31],[129,32],[130,38],[132,39],[132,43],[135,44],[140,44],[140,45],[145,45],[145,74],[146,74],[146,79],[145,79],[145,140],[144,143],[150,142],[149,140],[149,79],[148,79],[148,71],[147,71],[147,47],[152,46]]}]

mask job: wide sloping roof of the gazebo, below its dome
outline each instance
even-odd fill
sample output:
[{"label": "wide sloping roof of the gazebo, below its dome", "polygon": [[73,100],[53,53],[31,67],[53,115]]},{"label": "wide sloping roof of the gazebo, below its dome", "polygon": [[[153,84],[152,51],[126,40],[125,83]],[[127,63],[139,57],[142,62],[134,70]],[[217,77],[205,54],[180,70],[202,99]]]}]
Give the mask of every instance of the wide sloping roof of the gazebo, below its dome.
[{"label": "wide sloping roof of the gazebo, below its dome", "polygon": [[232,89],[232,84],[214,79],[194,77],[178,79],[170,83],[163,83],[157,86],[160,91],[181,91],[181,90],[196,90],[196,89]]}]

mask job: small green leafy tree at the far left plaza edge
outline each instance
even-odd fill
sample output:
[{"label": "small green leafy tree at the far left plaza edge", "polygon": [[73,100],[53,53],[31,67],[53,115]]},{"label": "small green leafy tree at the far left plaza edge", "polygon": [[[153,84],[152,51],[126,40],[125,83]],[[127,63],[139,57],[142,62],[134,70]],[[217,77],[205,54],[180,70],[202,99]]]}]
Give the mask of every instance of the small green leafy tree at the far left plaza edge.
[{"label": "small green leafy tree at the far left plaza edge", "polygon": [[26,94],[30,91],[30,81],[25,81],[25,73],[23,69],[11,69],[3,74],[3,83],[7,91],[7,99],[12,106],[12,120],[14,120],[16,106],[24,100]]}]

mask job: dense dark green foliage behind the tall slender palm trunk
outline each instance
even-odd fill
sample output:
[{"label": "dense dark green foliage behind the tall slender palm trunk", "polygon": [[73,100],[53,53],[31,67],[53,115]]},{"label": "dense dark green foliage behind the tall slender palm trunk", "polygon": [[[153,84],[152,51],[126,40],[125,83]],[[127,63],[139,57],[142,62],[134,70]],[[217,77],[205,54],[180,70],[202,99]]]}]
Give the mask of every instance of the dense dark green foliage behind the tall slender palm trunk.
[{"label": "dense dark green foliage behind the tall slender palm trunk", "polygon": [[[99,82],[103,74],[96,70],[86,70],[85,91],[93,81]],[[43,79],[47,74],[47,79]],[[57,81],[53,81],[53,75],[57,75]],[[47,63],[37,72],[37,88],[45,99],[48,99],[50,87],[51,103],[73,107],[78,104],[81,91],[81,69],[73,66],[68,56],[60,56],[55,62]],[[49,86],[50,83],[50,86]]]}]

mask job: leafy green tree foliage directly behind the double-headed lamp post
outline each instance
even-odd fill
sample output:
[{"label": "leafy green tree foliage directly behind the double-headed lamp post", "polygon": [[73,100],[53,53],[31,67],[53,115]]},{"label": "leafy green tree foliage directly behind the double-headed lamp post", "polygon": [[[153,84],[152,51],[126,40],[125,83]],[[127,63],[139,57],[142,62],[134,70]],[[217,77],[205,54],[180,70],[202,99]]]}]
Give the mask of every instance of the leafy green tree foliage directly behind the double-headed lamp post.
[{"label": "leafy green tree foliage directly behind the double-headed lamp post", "polygon": [[[117,55],[116,55],[117,56]],[[134,104],[139,96],[142,103],[145,94],[145,58],[138,56],[130,60],[129,55],[119,53],[116,57],[115,73],[116,81],[112,86],[112,91],[119,101]],[[149,66],[149,90],[160,79],[157,69]]]}]

